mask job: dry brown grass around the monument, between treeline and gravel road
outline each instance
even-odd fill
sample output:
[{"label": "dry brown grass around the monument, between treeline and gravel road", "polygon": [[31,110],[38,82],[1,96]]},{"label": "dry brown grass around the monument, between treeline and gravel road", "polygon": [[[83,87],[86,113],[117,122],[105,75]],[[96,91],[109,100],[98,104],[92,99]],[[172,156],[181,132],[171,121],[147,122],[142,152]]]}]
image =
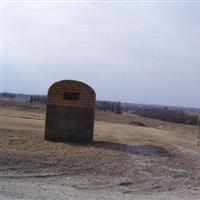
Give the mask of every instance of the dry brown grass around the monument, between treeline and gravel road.
[{"label": "dry brown grass around the monument, between treeline and gravel road", "polygon": [[[129,192],[200,184],[200,149],[195,145],[194,127],[127,115],[104,114],[103,118],[98,113],[94,143],[54,143],[44,140],[43,110],[2,104],[1,175],[88,175],[102,187]],[[130,118],[148,127],[128,125]],[[168,130],[162,130],[164,126]]]}]

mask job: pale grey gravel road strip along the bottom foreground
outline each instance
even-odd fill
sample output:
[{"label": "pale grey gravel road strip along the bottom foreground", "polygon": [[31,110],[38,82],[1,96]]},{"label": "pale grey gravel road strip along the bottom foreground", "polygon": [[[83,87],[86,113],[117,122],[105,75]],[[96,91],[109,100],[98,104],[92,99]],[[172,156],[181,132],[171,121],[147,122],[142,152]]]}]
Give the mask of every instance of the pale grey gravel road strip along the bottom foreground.
[{"label": "pale grey gravel road strip along the bottom foreground", "polygon": [[[97,177],[99,178],[99,177]],[[83,177],[4,179],[0,199],[69,200],[199,200],[200,192],[182,189],[166,192],[130,193],[116,188],[89,187]]]}]

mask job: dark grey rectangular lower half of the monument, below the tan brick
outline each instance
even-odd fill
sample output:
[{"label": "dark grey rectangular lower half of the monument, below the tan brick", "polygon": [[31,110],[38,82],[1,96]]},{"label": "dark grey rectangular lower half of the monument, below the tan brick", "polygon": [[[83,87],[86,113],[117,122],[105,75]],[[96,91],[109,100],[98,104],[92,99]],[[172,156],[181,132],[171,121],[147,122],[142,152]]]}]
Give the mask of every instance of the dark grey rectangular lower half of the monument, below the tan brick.
[{"label": "dark grey rectangular lower half of the monument, below the tan brick", "polygon": [[89,143],[93,141],[94,109],[48,105],[45,140]]}]

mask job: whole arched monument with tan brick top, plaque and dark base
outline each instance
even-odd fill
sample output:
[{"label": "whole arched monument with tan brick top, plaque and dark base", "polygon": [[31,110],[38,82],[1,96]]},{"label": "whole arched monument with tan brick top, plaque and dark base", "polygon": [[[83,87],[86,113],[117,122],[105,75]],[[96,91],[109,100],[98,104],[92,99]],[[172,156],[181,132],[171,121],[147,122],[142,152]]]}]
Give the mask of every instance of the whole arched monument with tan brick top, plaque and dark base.
[{"label": "whole arched monument with tan brick top, plaque and dark base", "polygon": [[48,91],[45,139],[60,142],[93,140],[95,92],[78,81],[60,81]]}]

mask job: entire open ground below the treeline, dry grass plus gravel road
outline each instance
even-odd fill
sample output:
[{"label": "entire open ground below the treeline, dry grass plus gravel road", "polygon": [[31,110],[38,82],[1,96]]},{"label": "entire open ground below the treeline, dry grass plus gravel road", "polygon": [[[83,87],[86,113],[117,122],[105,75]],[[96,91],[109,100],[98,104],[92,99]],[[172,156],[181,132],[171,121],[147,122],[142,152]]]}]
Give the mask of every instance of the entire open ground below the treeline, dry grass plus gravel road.
[{"label": "entire open ground below the treeline, dry grass plus gravel road", "polygon": [[97,113],[81,145],[44,141],[44,123],[43,105],[0,102],[1,199],[200,199],[193,126]]}]

